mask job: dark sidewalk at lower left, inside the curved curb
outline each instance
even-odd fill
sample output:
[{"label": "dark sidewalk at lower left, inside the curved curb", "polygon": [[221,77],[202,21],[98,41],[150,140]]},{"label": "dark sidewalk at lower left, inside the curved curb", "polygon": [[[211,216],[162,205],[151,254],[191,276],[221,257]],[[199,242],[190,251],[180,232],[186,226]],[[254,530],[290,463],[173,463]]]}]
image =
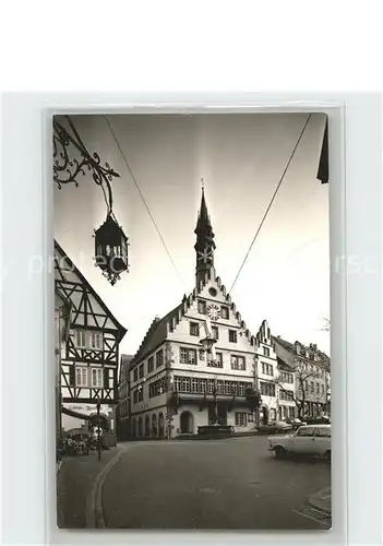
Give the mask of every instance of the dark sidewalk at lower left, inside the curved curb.
[{"label": "dark sidewalk at lower left, inside the curved curb", "polygon": [[85,529],[87,523],[87,500],[97,477],[116,458],[118,448],[88,455],[65,456],[57,474],[57,523],[60,529]]}]

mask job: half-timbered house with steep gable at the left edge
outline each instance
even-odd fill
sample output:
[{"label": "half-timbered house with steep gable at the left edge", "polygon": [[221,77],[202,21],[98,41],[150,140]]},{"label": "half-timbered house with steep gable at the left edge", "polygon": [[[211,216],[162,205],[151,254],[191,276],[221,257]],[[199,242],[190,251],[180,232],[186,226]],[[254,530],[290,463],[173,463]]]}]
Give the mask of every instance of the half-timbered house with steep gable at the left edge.
[{"label": "half-timbered house with steep gable at the left edge", "polygon": [[60,354],[62,428],[87,429],[99,418],[107,442],[116,444],[119,344],[125,329],[57,242],[55,292],[71,307]]}]

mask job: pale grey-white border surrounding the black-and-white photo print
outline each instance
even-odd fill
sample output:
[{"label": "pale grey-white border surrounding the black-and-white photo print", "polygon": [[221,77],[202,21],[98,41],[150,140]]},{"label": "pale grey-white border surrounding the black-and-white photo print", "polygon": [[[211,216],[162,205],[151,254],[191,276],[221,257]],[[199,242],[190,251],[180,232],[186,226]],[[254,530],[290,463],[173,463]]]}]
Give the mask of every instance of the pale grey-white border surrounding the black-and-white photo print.
[{"label": "pale grey-white border surrounding the black-and-white photo print", "polygon": [[[333,529],[136,533],[56,527],[51,116],[323,111],[330,119]],[[2,438],[5,544],[381,544],[382,134],[379,94],[3,95]],[[320,182],[318,182],[320,183]],[[334,264],[337,264],[335,268]],[[23,340],[21,342],[21,339]],[[19,348],[20,347],[20,348]],[[7,373],[4,369],[7,368]],[[22,431],[23,449],[15,449]],[[12,439],[9,442],[9,439]]]}]

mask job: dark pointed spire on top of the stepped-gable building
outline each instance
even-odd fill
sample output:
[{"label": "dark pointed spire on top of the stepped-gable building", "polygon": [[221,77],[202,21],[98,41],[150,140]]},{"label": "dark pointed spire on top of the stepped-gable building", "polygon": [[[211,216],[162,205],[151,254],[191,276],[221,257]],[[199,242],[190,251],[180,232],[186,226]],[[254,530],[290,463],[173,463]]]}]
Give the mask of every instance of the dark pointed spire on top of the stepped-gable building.
[{"label": "dark pointed spire on top of the stepped-gable building", "polygon": [[205,191],[204,191],[204,179],[202,178],[202,198],[201,207],[199,213],[199,219],[196,222],[196,227],[194,233],[196,235],[196,242],[194,249],[196,252],[196,286],[199,286],[200,281],[205,278],[205,274],[214,265],[214,233],[208,216]]}]

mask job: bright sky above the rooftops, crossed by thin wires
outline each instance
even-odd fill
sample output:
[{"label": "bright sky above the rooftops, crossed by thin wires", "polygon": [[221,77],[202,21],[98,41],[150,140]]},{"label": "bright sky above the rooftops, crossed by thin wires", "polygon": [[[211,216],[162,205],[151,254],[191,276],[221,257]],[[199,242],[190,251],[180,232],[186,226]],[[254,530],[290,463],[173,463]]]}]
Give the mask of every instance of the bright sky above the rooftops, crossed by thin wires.
[{"label": "bright sky above the rooftops, crossed by thin wires", "polygon": [[[113,212],[129,237],[130,272],[115,286],[94,265],[94,229],[106,218],[88,174],[55,188],[55,237],[128,332],[134,354],[154,317],[195,285],[194,228],[201,178],[215,233],[215,268],[230,289],[307,120],[307,114],[108,116],[175,262],[173,268],[105,117],[73,116],[89,152],[120,177]],[[313,114],[231,297],[250,331],[330,354],[328,185],[316,180],[325,116]]]}]

